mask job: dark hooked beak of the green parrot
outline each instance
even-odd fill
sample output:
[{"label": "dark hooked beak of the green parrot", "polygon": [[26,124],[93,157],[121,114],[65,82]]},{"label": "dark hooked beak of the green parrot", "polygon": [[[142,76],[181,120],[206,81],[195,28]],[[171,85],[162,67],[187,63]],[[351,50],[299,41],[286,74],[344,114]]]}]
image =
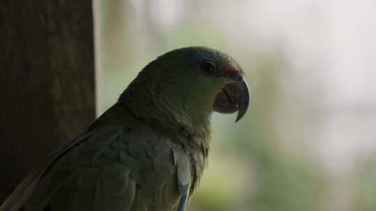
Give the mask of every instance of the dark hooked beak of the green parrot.
[{"label": "dark hooked beak of the green parrot", "polygon": [[237,111],[235,122],[242,119],[249,105],[249,88],[242,73],[230,74],[228,78],[235,83],[223,87],[215,97],[212,108],[222,114],[231,114]]}]

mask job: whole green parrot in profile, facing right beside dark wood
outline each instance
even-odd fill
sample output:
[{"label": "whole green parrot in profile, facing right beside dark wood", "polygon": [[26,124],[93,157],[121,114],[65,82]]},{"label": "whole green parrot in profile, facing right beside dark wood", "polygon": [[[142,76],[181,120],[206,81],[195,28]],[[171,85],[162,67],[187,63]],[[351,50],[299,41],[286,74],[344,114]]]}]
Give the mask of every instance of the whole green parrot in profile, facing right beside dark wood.
[{"label": "whole green parrot in profile, facing right beside dark wood", "polygon": [[212,111],[248,108],[240,65],[207,47],[142,69],[117,103],[31,171],[0,211],[186,210],[210,150]]}]

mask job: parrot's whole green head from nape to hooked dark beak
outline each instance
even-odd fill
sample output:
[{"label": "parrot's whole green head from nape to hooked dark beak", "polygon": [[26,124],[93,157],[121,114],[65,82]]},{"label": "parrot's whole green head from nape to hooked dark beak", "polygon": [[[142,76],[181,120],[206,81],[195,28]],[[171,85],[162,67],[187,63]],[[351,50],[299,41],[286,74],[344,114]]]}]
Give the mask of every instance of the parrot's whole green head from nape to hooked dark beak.
[{"label": "parrot's whole green head from nape to hooked dark beak", "polygon": [[[147,91],[132,96],[132,90]],[[237,112],[236,122],[249,105],[249,88],[240,65],[226,53],[207,47],[175,49],[159,56],[140,72],[123,95],[128,98],[127,104],[135,104],[129,99],[142,96],[148,108],[143,108],[140,115],[146,116],[144,113],[148,112],[148,117],[151,114],[163,120],[173,116],[184,121],[187,118],[182,116],[187,116],[195,117],[197,122],[215,111]],[[140,105],[133,105],[137,106]]]}]

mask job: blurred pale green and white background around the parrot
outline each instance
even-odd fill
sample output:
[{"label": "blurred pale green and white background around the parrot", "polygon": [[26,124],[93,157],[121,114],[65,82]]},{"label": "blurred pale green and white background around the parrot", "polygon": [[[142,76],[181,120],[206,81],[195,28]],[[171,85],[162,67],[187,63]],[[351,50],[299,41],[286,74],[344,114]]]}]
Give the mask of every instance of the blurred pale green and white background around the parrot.
[{"label": "blurred pale green and white background around the parrot", "polygon": [[376,1],[95,0],[97,115],[148,62],[203,45],[246,71],[214,115],[205,210],[376,210]]}]

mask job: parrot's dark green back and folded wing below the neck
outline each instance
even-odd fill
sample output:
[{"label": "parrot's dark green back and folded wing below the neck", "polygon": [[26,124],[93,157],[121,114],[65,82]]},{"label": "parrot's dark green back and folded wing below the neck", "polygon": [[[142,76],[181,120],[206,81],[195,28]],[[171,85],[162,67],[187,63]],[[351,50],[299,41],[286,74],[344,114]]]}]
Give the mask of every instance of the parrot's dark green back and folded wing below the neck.
[{"label": "parrot's dark green back and folded wing below the neck", "polygon": [[127,112],[111,121],[115,111],[61,146],[0,210],[185,210],[194,171],[183,146]]}]

